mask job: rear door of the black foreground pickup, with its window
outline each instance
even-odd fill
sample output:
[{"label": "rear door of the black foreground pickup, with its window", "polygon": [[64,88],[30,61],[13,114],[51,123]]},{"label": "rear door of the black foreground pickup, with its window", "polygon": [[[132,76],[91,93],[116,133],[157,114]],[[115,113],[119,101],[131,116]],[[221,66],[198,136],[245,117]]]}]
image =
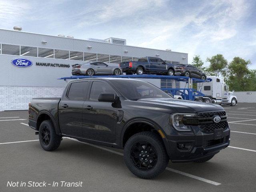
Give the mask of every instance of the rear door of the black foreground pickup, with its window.
[{"label": "rear door of the black foreground pickup, with its window", "polygon": [[62,134],[82,137],[82,112],[90,80],[71,83],[59,104]]}]

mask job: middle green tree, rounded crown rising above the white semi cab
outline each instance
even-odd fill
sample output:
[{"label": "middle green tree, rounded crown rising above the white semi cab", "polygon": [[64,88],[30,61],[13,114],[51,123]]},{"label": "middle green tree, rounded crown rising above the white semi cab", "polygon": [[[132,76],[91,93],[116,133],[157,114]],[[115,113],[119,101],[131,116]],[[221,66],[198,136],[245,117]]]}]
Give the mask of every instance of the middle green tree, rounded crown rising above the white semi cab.
[{"label": "middle green tree, rounded crown rising above the white semi cab", "polygon": [[211,58],[206,59],[207,62],[210,62],[210,66],[207,68],[207,72],[210,75],[214,76],[226,76],[226,69],[228,66],[228,61],[224,58],[222,54],[216,54]]}]

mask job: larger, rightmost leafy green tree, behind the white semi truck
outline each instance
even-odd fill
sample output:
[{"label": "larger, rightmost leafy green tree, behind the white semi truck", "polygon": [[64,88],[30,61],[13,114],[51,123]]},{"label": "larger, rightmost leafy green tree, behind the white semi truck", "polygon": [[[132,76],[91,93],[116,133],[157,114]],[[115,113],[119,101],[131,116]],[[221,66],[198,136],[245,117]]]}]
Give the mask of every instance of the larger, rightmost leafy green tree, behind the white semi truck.
[{"label": "larger, rightmost leafy green tree, behind the white semi truck", "polygon": [[234,57],[228,64],[228,85],[230,90],[247,91],[253,88],[256,77],[254,70],[249,70],[250,60],[244,60],[240,57]]}]

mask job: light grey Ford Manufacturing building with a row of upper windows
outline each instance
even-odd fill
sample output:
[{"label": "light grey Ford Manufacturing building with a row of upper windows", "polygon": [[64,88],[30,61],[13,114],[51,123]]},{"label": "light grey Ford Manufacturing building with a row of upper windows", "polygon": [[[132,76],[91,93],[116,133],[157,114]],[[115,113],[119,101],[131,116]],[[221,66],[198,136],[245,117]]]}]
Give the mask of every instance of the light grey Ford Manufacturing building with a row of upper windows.
[{"label": "light grey Ford Manufacturing building with a row of upper windows", "polygon": [[[124,39],[81,40],[22,32],[20,27],[14,29],[0,29],[0,111],[28,109],[28,102],[34,97],[60,97],[66,82],[58,78],[71,76],[73,64],[120,63],[144,56],[159,57],[174,64],[188,63],[186,53],[128,46]],[[13,64],[22,60],[26,67]],[[147,81],[172,88],[170,80]]]}]

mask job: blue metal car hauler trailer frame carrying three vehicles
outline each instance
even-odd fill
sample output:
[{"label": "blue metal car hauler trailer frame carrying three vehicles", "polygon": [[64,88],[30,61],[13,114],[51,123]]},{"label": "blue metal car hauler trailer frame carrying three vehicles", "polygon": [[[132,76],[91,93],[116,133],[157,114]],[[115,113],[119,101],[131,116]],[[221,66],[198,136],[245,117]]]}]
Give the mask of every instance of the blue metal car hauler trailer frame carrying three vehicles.
[{"label": "blue metal car hauler trailer frame carrying three vehicles", "polygon": [[188,88],[161,88],[165,92],[177,95],[180,94],[184,100],[195,100],[196,97],[203,97],[204,94],[198,90],[192,88],[193,83],[202,83],[205,80],[190,78],[186,76],[166,76],[166,75],[101,75],[101,76],[70,76],[59,78],[61,80],[74,80],[74,79],[84,79],[84,78],[145,78],[145,79],[172,79],[181,82],[188,83]]}]

